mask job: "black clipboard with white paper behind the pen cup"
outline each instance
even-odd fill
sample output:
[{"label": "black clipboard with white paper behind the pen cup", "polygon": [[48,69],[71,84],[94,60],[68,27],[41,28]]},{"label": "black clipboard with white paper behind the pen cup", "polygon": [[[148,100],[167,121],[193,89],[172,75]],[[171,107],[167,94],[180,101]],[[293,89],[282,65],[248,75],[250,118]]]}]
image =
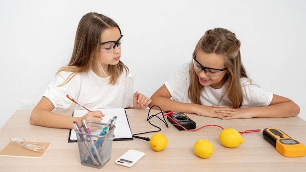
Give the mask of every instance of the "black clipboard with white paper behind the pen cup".
[{"label": "black clipboard with white paper behind the pen cup", "polygon": [[[133,140],[129,120],[127,113],[124,108],[105,108],[105,109],[93,109],[93,111],[100,110],[105,117],[102,117],[104,120],[112,119],[113,116],[117,116],[115,123],[116,129],[114,130],[114,141],[121,140]],[[81,117],[88,113],[86,109],[76,109],[73,111],[72,116]],[[102,121],[102,122],[107,122]],[[77,142],[75,129],[69,130],[68,143]]]}]

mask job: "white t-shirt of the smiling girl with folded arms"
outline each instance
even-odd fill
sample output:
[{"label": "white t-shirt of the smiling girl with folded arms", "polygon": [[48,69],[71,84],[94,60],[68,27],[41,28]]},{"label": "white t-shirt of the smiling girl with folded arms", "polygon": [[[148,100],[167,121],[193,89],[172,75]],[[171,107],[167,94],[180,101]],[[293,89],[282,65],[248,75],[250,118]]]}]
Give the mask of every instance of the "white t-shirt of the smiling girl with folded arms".
[{"label": "white t-shirt of the smiling girl with folded arms", "polygon": [[[171,94],[171,98],[178,102],[193,103],[188,97],[188,88],[190,84],[189,75],[190,63],[183,64],[178,71],[165,82],[165,86]],[[241,108],[246,107],[262,107],[268,106],[273,98],[271,92],[263,90],[253,80],[248,78],[241,78],[241,85],[243,91],[243,102]],[[204,86],[200,95],[200,100],[203,105],[228,105],[231,106],[231,101],[224,96],[221,99],[223,90],[227,82],[219,89],[211,86]],[[221,99],[221,100],[220,100]]]}]

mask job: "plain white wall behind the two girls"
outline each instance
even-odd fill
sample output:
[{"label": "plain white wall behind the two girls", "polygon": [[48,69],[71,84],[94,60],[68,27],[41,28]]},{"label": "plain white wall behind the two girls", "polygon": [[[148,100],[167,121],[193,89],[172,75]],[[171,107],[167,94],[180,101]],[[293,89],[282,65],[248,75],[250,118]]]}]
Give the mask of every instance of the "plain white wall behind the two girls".
[{"label": "plain white wall behind the two girls", "polygon": [[305,7],[304,0],[0,0],[0,128],[22,101],[38,103],[70,59],[87,12],[119,24],[121,60],[148,97],[191,59],[207,29],[224,27],[240,39],[249,76],[295,101],[306,120]]}]

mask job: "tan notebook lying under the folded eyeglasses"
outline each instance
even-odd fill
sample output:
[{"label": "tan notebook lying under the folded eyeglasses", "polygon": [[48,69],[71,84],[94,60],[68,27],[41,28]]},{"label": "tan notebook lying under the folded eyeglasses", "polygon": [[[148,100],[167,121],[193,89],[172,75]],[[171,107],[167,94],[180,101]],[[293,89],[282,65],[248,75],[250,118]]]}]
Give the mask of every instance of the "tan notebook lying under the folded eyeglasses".
[{"label": "tan notebook lying under the folded eyeglasses", "polygon": [[19,147],[15,142],[11,141],[7,146],[0,151],[0,156],[12,156],[12,157],[26,157],[26,158],[42,158],[44,154],[48,151],[51,143],[43,143],[43,142],[26,142],[26,143],[36,143],[44,147],[41,152],[31,151],[28,149],[24,149]]}]

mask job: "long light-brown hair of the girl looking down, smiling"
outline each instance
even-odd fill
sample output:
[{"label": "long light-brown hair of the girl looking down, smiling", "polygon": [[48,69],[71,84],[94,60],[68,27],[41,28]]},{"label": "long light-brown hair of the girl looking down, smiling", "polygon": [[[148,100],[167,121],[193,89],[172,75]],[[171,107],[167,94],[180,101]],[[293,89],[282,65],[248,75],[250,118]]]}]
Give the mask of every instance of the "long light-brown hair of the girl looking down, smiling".
[{"label": "long light-brown hair of the girl looking down, smiling", "polygon": [[[225,67],[228,70],[228,73],[224,77],[228,80],[228,84],[222,93],[222,97],[227,96],[233,103],[231,106],[234,108],[241,107],[243,93],[240,78],[248,78],[248,76],[241,62],[240,41],[236,38],[236,35],[223,28],[207,30],[198,41],[193,52],[193,57],[196,56],[198,50],[202,50],[207,54],[216,53],[224,57]],[[195,104],[202,104],[200,95],[203,86],[198,81],[193,63],[190,64],[189,73],[190,86],[188,88],[188,96]]]}]

